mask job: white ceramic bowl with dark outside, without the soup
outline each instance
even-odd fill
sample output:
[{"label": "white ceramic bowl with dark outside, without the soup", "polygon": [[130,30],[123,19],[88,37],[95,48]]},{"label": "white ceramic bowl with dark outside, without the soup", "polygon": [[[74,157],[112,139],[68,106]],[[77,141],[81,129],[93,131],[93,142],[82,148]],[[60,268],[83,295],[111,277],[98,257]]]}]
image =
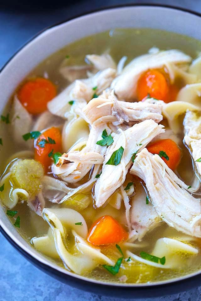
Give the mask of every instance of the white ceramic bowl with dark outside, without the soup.
[{"label": "white ceramic bowl with dark outside, without the soup", "polygon": [[[19,83],[47,56],[85,36],[113,28],[154,28],[201,40],[199,14],[157,5],[128,5],[89,13],[46,29],[24,45],[0,73],[0,112]],[[154,297],[186,290],[199,284],[201,272],[154,284],[103,283],[75,275],[48,261],[16,231],[0,206],[0,230],[28,260],[53,277],[72,286],[117,297]]]}]

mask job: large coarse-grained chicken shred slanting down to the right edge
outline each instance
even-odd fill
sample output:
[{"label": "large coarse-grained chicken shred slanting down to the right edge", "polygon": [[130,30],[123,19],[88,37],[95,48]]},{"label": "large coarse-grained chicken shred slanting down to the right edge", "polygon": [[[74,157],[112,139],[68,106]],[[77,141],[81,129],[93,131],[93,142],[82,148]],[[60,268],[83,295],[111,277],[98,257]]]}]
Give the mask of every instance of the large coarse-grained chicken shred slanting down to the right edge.
[{"label": "large coarse-grained chicken shred slanting down to the right edge", "polygon": [[200,198],[193,197],[189,187],[159,155],[144,148],[137,154],[130,173],[143,179],[150,201],[162,220],[178,231],[201,237]]}]

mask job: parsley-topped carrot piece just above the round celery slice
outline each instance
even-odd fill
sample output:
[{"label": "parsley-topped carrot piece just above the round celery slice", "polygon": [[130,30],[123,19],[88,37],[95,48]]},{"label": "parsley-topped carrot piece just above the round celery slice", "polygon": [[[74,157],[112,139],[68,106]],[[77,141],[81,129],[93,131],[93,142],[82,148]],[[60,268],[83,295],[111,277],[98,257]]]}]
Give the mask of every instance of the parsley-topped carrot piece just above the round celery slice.
[{"label": "parsley-topped carrot piece just above the round celery slice", "polygon": [[36,161],[41,162],[46,172],[48,167],[52,164],[51,156],[48,156],[52,150],[53,152],[61,151],[62,137],[58,128],[52,127],[43,132],[37,139],[35,144],[35,156]]}]

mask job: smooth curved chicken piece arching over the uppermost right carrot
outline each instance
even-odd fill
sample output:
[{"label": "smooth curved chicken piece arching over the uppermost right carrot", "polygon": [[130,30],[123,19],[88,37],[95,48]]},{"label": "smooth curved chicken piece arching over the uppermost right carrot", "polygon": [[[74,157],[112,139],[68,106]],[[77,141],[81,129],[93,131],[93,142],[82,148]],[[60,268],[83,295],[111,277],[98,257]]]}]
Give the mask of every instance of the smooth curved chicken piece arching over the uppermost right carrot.
[{"label": "smooth curved chicken piece arching over the uppermost right carrot", "polygon": [[121,75],[114,79],[111,87],[114,88],[119,99],[131,101],[137,97],[137,83],[143,72],[148,69],[162,68],[166,63],[188,63],[191,60],[189,55],[174,49],[140,55],[123,69]]}]

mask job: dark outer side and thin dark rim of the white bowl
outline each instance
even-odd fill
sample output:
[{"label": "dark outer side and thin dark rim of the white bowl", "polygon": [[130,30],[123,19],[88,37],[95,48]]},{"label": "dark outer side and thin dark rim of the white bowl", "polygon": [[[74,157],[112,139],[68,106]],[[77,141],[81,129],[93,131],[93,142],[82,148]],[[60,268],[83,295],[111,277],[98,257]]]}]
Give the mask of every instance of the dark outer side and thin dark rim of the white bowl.
[{"label": "dark outer side and thin dark rim of the white bowl", "polygon": [[[157,4],[157,3],[127,3],[127,4],[120,4],[120,5],[113,5],[113,6],[108,6],[108,7],[103,7],[103,8],[98,8],[98,9],[94,9],[91,10],[89,12],[86,13],[81,13],[78,15],[73,16],[72,18],[68,18],[65,19],[61,22],[58,22],[56,24],[53,24],[51,26],[48,26],[44,29],[42,29],[41,31],[39,31],[37,34],[35,34],[33,37],[31,37],[29,40],[27,40],[27,42],[25,42],[11,57],[10,59],[2,66],[2,68],[0,69],[0,73],[3,71],[3,69],[8,65],[8,63],[14,58],[15,55],[17,55],[26,45],[28,45],[31,41],[33,41],[35,38],[37,38],[40,34],[42,34],[43,32],[45,32],[48,29],[51,29],[57,25],[61,25],[63,23],[66,23],[68,21],[71,21],[73,19],[79,18],[79,17],[83,17],[86,15],[90,15],[92,13],[96,13],[96,12],[100,12],[100,11],[104,11],[104,10],[109,10],[109,9],[115,9],[115,8],[124,8],[124,7],[159,7],[159,8],[169,8],[172,10],[178,10],[178,11],[183,11],[186,13],[190,13],[193,15],[196,15],[198,17],[201,17],[201,13],[195,12],[191,9],[187,9],[187,8],[181,8],[179,6],[173,6],[173,5],[166,5],[166,4]],[[9,243],[14,246],[14,248],[19,251],[19,253],[21,255],[23,255],[28,261],[30,261],[33,265],[35,265],[36,267],[40,268],[41,270],[43,270],[44,272],[46,272],[47,274],[51,275],[52,274],[61,282],[65,282],[70,284],[73,287],[76,288],[80,288],[82,287],[82,289],[86,290],[86,285],[87,285],[87,290],[97,293],[96,292],[96,288],[101,289],[103,288],[103,286],[105,286],[105,290],[102,292],[102,294],[104,295],[111,295],[110,291],[113,289],[118,289],[118,290],[122,290],[124,293],[126,293],[126,291],[135,291],[138,292],[136,296],[133,296],[133,298],[142,296],[141,294],[143,293],[144,297],[149,297],[152,298],[154,296],[161,296],[161,294],[163,294],[163,288],[165,290],[165,288],[167,287],[171,287],[172,291],[168,292],[167,294],[172,294],[175,291],[177,292],[178,290],[184,291],[187,289],[190,289],[192,287],[195,287],[197,285],[199,285],[199,280],[201,279],[201,271],[199,273],[197,273],[196,275],[186,275],[184,276],[184,278],[175,278],[169,281],[161,281],[161,282],[156,282],[156,283],[149,283],[149,284],[141,284],[136,286],[136,284],[120,284],[120,283],[107,283],[107,282],[93,282],[94,279],[90,279],[87,277],[83,277],[84,279],[78,278],[79,275],[77,274],[66,274],[62,271],[59,271],[57,269],[55,269],[54,267],[49,266],[48,264],[45,264],[43,262],[41,262],[40,260],[36,259],[35,257],[33,257],[32,255],[30,255],[27,251],[25,251],[22,247],[20,247],[9,235],[8,233],[2,228],[2,226],[0,225],[0,232],[3,234],[3,236],[9,241]],[[65,278],[65,280],[64,280]],[[68,281],[67,281],[68,280]],[[195,281],[197,280],[197,281]],[[75,283],[76,282],[76,283]],[[91,289],[90,286],[93,285],[94,287]],[[179,287],[179,288],[178,288]],[[156,293],[155,289],[159,289],[160,288],[160,293]],[[153,295],[150,295],[150,292],[152,291]],[[119,292],[120,293],[120,292]],[[164,294],[166,293],[166,291],[164,292]],[[122,295],[123,297],[124,295]],[[126,295],[125,295],[126,298]]]}]

